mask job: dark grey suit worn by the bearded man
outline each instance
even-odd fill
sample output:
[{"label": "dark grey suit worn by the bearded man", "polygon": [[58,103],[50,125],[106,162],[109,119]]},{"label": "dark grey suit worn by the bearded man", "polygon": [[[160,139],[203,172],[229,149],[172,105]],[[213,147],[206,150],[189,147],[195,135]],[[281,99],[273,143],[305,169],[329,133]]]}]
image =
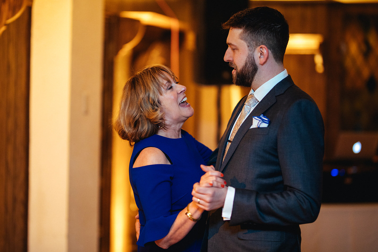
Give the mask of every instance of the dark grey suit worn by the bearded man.
[{"label": "dark grey suit worn by the bearded man", "polygon": [[[215,169],[235,187],[231,220],[223,221],[222,209],[209,213],[201,251],[300,251],[299,224],[315,221],[321,205],[321,113],[289,75],[245,119],[222,161],[245,100],[235,107],[213,153]],[[270,119],[268,127],[250,128],[253,116],[261,114]]]}]

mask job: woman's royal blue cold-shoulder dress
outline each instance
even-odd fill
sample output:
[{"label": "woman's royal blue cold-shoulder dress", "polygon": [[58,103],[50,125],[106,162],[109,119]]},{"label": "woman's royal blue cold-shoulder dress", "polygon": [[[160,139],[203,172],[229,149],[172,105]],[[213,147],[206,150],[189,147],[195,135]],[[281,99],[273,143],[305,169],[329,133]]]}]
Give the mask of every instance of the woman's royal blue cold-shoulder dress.
[{"label": "woman's royal blue cold-shoulder dress", "polygon": [[[200,164],[206,164],[212,153],[186,131],[181,130],[181,135],[177,139],[153,135],[134,145],[129,175],[141,223],[138,251],[200,251],[206,212],[186,237],[167,250],[155,244],[168,234],[178,213],[192,201],[193,184],[204,174]],[[171,164],[132,168],[146,147],[160,149]]]}]

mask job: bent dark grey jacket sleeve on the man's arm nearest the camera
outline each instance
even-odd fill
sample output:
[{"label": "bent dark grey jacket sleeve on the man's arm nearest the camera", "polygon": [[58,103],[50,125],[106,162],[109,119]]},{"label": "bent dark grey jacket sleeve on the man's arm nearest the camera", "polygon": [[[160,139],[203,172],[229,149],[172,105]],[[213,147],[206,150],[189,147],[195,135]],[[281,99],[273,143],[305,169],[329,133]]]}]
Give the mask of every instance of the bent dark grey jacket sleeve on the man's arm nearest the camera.
[{"label": "bent dark grey jacket sleeve on the man's arm nearest the camera", "polygon": [[297,100],[283,113],[277,132],[277,155],[285,189],[259,193],[237,188],[230,226],[304,224],[313,222],[319,214],[324,155],[321,114],[309,99]]}]

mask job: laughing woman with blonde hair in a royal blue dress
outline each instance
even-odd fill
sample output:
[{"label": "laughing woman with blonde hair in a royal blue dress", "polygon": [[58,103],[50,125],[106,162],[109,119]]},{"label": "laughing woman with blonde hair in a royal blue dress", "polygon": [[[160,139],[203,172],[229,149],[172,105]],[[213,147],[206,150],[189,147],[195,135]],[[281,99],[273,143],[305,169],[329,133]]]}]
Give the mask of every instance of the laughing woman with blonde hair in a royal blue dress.
[{"label": "laughing woman with blonde hair in a royal blue dress", "polygon": [[[138,251],[199,251],[206,215],[192,201],[192,187],[205,173],[211,150],[182,130],[194,110],[186,87],[166,66],[152,65],[127,80],[118,135],[134,145],[129,175],[141,224]],[[224,187],[220,172],[207,172],[208,186]],[[166,250],[164,250],[166,251]]]}]

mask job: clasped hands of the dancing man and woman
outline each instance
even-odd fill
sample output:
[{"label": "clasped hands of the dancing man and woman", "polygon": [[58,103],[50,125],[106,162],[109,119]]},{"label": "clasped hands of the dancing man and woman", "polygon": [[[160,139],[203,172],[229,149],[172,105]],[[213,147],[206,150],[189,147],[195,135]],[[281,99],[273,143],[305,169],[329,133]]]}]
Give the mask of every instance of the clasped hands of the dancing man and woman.
[{"label": "clasped hands of the dancing man and woman", "polygon": [[201,176],[200,182],[193,185],[192,200],[206,211],[223,207],[227,194],[223,173],[216,171],[212,165],[201,165],[201,169],[206,173]]}]

